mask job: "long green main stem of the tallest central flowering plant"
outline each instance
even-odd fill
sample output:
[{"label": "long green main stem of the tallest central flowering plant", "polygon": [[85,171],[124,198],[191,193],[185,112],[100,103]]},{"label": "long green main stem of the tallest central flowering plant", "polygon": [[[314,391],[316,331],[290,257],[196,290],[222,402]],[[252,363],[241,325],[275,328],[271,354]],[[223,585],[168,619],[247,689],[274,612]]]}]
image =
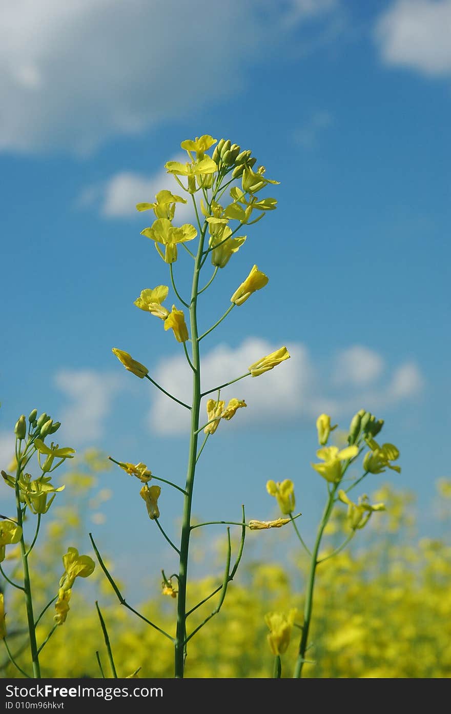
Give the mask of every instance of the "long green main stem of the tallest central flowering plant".
[{"label": "long green main stem of the tallest central flowering plant", "polygon": [[[196,206],[196,201],[195,203]],[[199,354],[199,338],[197,324],[197,300],[199,276],[201,273],[201,260],[203,255],[203,241],[206,234],[206,223],[199,238],[196,263],[194,264],[193,283],[191,287],[190,326],[193,364],[193,403],[191,404],[191,434],[188,451],[188,471],[186,474],[186,496],[183,498],[183,521],[180,543],[180,567],[178,570],[178,598],[177,598],[177,628],[174,673],[176,678],[183,678],[185,667],[185,639],[186,639],[186,581],[188,573],[188,552],[191,535],[191,503],[193,501],[194,475],[196,472],[196,456],[198,448],[199,412],[201,408],[201,359]]]}]

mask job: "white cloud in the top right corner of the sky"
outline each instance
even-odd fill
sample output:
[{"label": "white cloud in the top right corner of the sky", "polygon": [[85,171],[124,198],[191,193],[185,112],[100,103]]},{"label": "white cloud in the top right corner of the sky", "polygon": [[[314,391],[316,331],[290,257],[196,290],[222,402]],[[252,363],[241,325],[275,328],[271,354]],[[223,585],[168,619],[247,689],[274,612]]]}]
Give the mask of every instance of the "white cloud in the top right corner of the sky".
[{"label": "white cloud in the top right corner of the sky", "polygon": [[451,73],[451,0],[397,0],[378,19],[375,40],[385,64],[429,76]]}]

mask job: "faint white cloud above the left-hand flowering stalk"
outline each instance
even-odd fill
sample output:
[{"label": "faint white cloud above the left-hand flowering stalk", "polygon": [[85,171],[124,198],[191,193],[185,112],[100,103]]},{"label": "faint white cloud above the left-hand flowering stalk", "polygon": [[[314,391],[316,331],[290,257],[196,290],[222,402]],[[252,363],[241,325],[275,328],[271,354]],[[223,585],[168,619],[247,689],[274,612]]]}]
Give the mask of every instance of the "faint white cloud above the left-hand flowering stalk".
[{"label": "faint white cloud above the left-hand flowering stalk", "polygon": [[93,443],[103,436],[103,421],[122,388],[118,376],[89,369],[61,369],[55,384],[71,400],[61,412],[61,423],[74,443]]}]

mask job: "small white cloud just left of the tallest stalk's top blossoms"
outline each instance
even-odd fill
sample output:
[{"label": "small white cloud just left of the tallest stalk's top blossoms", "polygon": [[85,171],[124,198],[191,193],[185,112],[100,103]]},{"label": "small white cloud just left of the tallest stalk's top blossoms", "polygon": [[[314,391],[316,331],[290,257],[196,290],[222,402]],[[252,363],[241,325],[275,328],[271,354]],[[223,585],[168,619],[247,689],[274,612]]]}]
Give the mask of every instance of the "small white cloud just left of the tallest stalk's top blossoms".
[{"label": "small white cloud just left of the tallest stalk's top blossoms", "polygon": [[[175,156],[173,161],[184,162],[187,159],[187,155],[180,155]],[[119,171],[107,181],[84,188],[76,203],[80,208],[98,206],[101,215],[105,218],[140,218],[141,214],[136,211],[136,203],[144,201],[152,203],[155,201],[156,193],[165,188],[178,195],[183,193],[173,176],[166,173],[166,169],[161,169],[153,176],[144,176],[133,171]],[[191,198],[188,194],[183,198],[186,196],[188,196],[186,203],[177,203],[177,223],[187,223],[193,219]],[[155,220],[153,212],[150,215],[153,222]],[[143,216],[141,221],[142,219]]]}]

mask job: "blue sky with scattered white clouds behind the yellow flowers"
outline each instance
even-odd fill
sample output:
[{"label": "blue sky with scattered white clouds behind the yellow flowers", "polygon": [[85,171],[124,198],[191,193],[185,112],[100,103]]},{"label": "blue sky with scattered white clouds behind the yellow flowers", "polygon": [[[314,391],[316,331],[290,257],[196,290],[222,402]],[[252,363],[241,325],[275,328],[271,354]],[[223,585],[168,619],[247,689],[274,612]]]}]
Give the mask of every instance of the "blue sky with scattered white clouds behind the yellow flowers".
[{"label": "blue sky with scattered white clouds behind the yellow flowers", "polygon": [[[180,413],[111,347],[186,390],[180,346],[133,306],[168,281],[134,206],[171,187],[163,165],[183,139],[213,134],[252,149],[280,186],[202,303],[208,328],[254,263],[270,277],[206,338],[206,375],[226,381],[282,344],[293,356],[230,392],[248,408],[210,439],[194,512],[235,519],[244,502],[269,518],[266,480],[293,478],[310,533],[324,488],[315,418],[346,428],[364,406],[400,448],[392,481],[433,528],[434,482],[450,476],[451,2],[18,0],[2,14],[2,466],[36,406],[63,422],[64,446],[183,484]],[[189,267],[181,255],[182,290]],[[103,485],[98,538],[125,555],[118,520],[148,538],[144,504],[119,470]],[[171,530],[177,499],[161,504]]]}]

